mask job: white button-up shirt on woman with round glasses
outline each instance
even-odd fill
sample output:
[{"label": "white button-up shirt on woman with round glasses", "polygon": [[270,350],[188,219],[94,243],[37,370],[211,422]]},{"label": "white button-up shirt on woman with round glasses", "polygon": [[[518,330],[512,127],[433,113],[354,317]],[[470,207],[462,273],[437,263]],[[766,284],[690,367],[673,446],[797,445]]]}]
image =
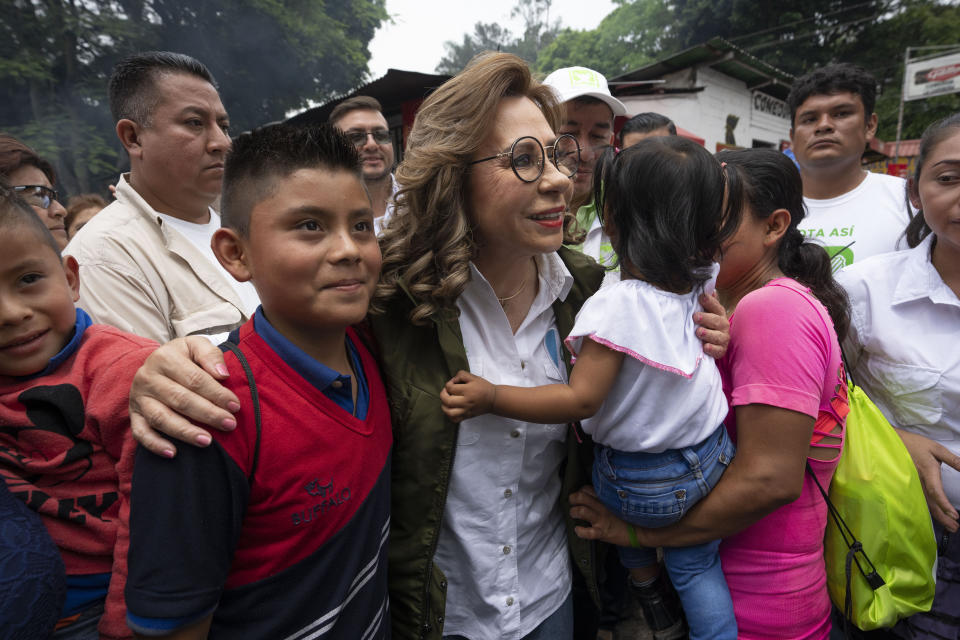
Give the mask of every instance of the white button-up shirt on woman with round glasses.
[{"label": "white button-up shirt on woman with round glasses", "polygon": [[[473,265],[457,300],[470,370],[494,384],[566,382],[551,305],[573,277],[555,253],[538,256],[537,269],[539,291],[516,334]],[[494,415],[460,424],[435,556],[448,584],[444,635],[522,638],[570,593],[559,502],[566,432]]]}]

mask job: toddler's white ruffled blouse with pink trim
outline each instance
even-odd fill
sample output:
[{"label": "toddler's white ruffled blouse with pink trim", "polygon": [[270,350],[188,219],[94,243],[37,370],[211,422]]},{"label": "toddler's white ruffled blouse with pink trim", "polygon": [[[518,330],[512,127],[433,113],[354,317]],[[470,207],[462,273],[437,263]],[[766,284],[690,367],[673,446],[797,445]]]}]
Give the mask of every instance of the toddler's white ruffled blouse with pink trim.
[{"label": "toddler's white ruffled blouse with pink trim", "polygon": [[[708,290],[714,282],[716,270]],[[583,305],[566,341],[571,352],[589,338],[626,356],[600,410],[581,423],[595,442],[659,453],[698,444],[720,426],[727,401],[716,362],[695,333],[698,294],[621,280]]]}]

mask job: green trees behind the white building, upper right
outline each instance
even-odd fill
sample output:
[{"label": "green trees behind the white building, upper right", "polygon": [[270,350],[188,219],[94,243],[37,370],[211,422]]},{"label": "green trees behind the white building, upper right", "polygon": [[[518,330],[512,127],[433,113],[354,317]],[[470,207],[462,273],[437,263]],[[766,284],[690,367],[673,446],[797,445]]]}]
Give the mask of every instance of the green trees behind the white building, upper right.
[{"label": "green trees behind the white building, upper right", "polygon": [[[880,83],[878,136],[896,138],[908,46],[960,43],[960,7],[943,0],[618,0],[596,29],[564,29],[537,56],[549,73],[583,65],[616,76],[715,36],[764,62],[802,75],[831,62],[852,62]],[[903,139],[960,111],[960,94],[907,102]]]}]

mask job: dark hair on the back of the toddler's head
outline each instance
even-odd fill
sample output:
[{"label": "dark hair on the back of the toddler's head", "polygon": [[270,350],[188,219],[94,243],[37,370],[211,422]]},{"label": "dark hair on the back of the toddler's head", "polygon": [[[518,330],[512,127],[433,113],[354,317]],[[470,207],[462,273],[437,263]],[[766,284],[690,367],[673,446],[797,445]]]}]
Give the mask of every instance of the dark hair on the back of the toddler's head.
[{"label": "dark hair on the back of the toddler's head", "polygon": [[724,206],[720,164],[686,138],[647,138],[616,155],[607,150],[593,191],[597,211],[613,223],[621,269],[674,293],[710,278],[721,243],[740,220],[734,198]]}]

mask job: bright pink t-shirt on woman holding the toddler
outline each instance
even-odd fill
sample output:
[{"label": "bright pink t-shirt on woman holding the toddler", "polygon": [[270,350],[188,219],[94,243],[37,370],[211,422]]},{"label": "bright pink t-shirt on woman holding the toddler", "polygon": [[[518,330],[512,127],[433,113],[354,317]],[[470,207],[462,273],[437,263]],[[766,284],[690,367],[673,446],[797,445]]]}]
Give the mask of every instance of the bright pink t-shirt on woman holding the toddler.
[{"label": "bright pink t-shirt on woman holding the toddler", "polygon": [[[816,418],[811,444],[837,450],[830,461],[808,458],[826,489],[840,447],[820,440],[844,423],[848,411],[840,347],[826,308],[803,285],[778,278],[740,301],[730,337],[719,365],[731,437],[736,440],[733,409],[739,405],[771,405]],[[804,474],[796,501],[723,541],[720,558],[740,638],[829,636],[826,522],[826,504]]]}]

